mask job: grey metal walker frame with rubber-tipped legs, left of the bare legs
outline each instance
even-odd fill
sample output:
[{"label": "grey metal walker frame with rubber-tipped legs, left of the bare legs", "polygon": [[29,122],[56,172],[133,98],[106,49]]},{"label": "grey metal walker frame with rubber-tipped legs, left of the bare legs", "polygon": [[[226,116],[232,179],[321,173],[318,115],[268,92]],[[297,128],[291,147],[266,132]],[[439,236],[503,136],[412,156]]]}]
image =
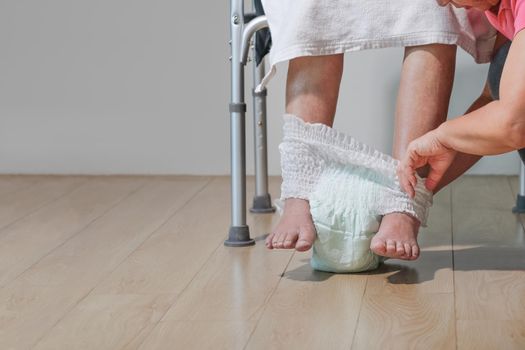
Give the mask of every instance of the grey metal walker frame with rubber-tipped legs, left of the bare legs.
[{"label": "grey metal walker frame with rubber-tipped legs, left of the bare legs", "polygon": [[[256,4],[256,1],[258,3]],[[253,8],[260,5],[254,0]],[[224,245],[244,247],[255,244],[246,224],[246,103],[244,97],[244,66],[248,61],[250,42],[254,34],[268,27],[266,16],[244,13],[242,0],[230,0],[231,45],[231,100],[230,100],[230,152],[231,152],[231,226]],[[262,6],[259,6],[262,9]],[[255,41],[255,39],[254,39]],[[255,47],[257,43],[253,46]],[[255,49],[254,49],[255,51]],[[264,77],[264,61],[254,62],[254,87]],[[253,90],[255,91],[255,90]],[[268,193],[268,158],[266,134],[266,89],[253,92],[255,136],[255,197],[251,211],[275,211]]]}]

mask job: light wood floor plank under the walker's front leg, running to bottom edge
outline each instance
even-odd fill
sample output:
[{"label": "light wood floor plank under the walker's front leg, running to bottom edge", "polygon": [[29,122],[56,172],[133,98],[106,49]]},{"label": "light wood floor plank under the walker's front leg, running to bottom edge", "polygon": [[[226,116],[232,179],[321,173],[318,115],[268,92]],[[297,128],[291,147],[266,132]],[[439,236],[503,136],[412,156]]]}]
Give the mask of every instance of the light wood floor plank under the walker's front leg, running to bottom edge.
[{"label": "light wood floor plank under the walker's front leg, running to bottom edge", "polygon": [[[271,193],[278,193],[279,184],[279,179],[272,179]],[[213,326],[210,332],[216,337],[214,348],[229,348],[235,344],[234,348],[240,349],[245,345],[293,254],[292,251],[268,251],[264,246],[264,234],[276,224],[276,214],[250,217],[253,220],[252,236],[258,242],[256,246],[227,248],[221,242],[219,249],[182,292],[141,348],[148,349],[148,344],[155,344],[158,348],[199,348],[199,344],[206,342],[195,337],[195,333],[187,333],[175,341],[173,337],[159,337],[171,332],[180,334],[181,329],[203,326],[207,322]],[[239,322],[245,326],[234,330],[233,325]],[[217,334],[229,334],[231,337],[214,336]]]}]

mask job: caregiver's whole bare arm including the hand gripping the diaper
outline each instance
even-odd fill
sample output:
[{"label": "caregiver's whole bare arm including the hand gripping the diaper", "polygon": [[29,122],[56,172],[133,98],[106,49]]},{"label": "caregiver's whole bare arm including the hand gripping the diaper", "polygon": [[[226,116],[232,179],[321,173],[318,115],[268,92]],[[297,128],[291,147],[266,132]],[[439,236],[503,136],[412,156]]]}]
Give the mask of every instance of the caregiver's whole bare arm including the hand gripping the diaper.
[{"label": "caregiver's whole bare arm including the hand gripping the diaper", "polygon": [[[507,57],[500,83],[501,100],[480,103],[486,105],[410,143],[398,168],[400,184],[410,196],[415,195],[415,170],[426,164],[430,166],[426,186],[435,190],[457,151],[490,155],[525,146],[525,64],[521,62],[525,62],[525,30],[515,36]],[[484,94],[488,92],[485,90]]]}]

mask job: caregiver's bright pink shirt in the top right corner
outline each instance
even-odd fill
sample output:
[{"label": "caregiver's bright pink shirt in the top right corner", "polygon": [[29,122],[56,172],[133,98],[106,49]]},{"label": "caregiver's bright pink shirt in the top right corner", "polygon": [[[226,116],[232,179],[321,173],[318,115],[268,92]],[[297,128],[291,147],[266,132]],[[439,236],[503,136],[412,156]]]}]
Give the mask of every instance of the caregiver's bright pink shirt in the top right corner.
[{"label": "caregiver's bright pink shirt in the top right corner", "polygon": [[485,11],[489,22],[510,40],[525,28],[525,0],[501,0],[498,14]]}]

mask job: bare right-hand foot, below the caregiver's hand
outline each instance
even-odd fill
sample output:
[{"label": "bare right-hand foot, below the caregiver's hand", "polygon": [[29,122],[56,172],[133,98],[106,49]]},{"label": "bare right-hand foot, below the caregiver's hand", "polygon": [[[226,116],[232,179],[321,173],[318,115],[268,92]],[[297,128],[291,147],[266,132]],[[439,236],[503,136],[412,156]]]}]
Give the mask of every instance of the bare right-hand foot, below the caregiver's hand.
[{"label": "bare right-hand foot, below the caregiver's hand", "polygon": [[419,257],[417,233],[419,221],[402,213],[385,215],[381,221],[370,249],[377,255],[403,260],[415,260]]}]

